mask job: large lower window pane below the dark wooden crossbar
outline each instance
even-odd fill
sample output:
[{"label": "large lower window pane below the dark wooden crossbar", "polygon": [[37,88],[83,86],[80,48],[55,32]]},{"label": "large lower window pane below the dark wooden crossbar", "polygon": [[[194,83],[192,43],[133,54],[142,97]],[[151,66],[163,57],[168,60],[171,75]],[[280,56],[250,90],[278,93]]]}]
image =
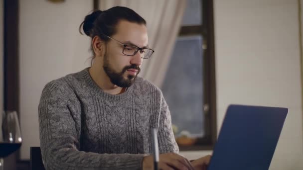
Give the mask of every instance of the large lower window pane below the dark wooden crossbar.
[{"label": "large lower window pane below the dark wooden crossbar", "polygon": [[176,137],[184,131],[204,135],[202,40],[201,35],[177,39],[162,85]]}]

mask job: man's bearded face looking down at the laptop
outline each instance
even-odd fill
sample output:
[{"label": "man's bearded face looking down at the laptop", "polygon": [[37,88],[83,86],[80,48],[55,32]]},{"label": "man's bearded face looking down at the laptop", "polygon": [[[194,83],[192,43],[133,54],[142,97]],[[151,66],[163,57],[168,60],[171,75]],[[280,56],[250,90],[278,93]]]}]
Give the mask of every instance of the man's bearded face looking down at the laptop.
[{"label": "man's bearded face looking down at the laptop", "polygon": [[[148,45],[148,32],[144,24],[121,20],[117,24],[117,33],[111,37],[125,45],[141,48]],[[140,51],[134,56],[127,56],[122,53],[123,49],[122,44],[110,39],[106,44],[103,69],[114,85],[129,87],[139,74],[143,59]]]}]

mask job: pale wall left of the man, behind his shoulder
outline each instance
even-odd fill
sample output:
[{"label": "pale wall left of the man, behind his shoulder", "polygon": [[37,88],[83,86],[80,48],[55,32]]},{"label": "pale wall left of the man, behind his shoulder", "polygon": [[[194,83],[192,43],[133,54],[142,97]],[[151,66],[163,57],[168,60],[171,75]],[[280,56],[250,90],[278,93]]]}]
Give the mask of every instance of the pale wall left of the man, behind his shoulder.
[{"label": "pale wall left of the man, behind his shoulder", "polygon": [[19,0],[21,159],[40,145],[37,108],[44,85],[88,66],[90,39],[78,28],[92,2]]}]

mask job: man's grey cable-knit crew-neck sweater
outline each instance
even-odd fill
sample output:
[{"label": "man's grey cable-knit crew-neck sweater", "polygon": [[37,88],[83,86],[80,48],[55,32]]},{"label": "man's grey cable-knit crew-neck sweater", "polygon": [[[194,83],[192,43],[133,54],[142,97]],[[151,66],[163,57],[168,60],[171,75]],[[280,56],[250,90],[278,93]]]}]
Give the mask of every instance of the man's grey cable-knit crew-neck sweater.
[{"label": "man's grey cable-knit crew-neck sweater", "polygon": [[46,170],[141,170],[153,127],[159,153],[178,152],[160,89],[140,77],[112,95],[87,68],[45,85],[38,112]]}]

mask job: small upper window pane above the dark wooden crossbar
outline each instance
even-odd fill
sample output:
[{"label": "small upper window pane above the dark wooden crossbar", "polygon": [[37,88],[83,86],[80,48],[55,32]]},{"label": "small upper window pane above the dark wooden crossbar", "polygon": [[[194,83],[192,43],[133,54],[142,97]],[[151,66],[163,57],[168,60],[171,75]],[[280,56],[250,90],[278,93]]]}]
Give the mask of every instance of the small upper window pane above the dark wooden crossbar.
[{"label": "small upper window pane above the dark wooden crossbar", "polygon": [[187,0],[186,9],[181,26],[201,25],[202,24],[202,7],[201,0]]}]

